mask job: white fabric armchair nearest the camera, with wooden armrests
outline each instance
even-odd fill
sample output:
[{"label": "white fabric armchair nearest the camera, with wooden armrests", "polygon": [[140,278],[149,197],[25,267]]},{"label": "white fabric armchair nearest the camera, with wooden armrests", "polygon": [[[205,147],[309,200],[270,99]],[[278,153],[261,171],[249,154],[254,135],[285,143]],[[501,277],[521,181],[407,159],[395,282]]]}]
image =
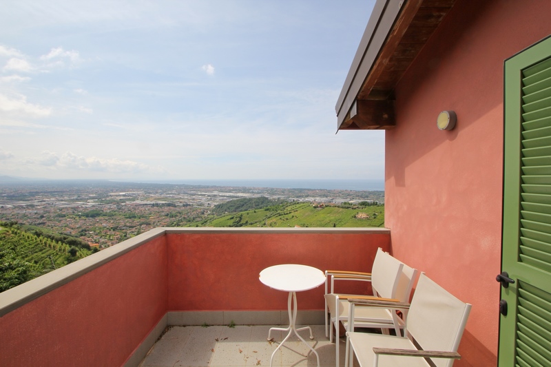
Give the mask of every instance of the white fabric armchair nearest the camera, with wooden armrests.
[{"label": "white fabric armchair nearest the camera, with wooden armrests", "polygon": [[[457,300],[424,273],[419,276],[411,304],[350,299],[349,319],[362,308],[409,308],[404,337],[346,333],[346,366],[353,353],[361,367],[451,367],[467,323],[471,305]],[[352,322],[352,321],[350,321]]]}]

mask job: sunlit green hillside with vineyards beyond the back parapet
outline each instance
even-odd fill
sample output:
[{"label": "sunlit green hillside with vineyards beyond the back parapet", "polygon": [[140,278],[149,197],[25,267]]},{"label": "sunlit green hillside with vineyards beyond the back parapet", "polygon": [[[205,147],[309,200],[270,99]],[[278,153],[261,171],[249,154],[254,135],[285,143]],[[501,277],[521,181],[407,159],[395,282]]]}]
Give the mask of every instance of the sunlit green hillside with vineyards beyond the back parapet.
[{"label": "sunlit green hillside with vineyards beyond the back parapet", "polygon": [[[368,218],[356,218],[364,213]],[[224,216],[210,216],[189,227],[384,227],[383,205],[317,207],[291,202]]]}]

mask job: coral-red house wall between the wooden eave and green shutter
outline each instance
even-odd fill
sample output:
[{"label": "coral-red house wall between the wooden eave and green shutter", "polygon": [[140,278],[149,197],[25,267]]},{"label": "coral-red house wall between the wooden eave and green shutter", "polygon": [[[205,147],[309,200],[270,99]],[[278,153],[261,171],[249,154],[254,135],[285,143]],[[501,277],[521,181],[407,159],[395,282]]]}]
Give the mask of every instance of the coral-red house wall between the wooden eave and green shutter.
[{"label": "coral-red house wall between the wooden eave and green shutter", "polygon": [[497,363],[503,61],[551,33],[548,14],[545,0],[458,0],[395,91],[385,224],[399,260],[473,305],[457,366]]}]

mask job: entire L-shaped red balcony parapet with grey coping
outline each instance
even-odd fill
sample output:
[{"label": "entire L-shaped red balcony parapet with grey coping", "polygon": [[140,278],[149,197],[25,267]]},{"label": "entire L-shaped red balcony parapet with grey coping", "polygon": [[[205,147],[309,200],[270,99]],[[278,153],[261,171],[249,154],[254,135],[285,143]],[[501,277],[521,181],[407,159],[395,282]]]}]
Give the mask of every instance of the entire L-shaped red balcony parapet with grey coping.
[{"label": "entire L-shaped red balcony parapet with grey coping", "polygon": [[[170,325],[284,324],[262,269],[370,271],[378,247],[388,229],[153,229],[0,293],[0,366],[136,366]],[[323,292],[299,317],[323,323]]]}]

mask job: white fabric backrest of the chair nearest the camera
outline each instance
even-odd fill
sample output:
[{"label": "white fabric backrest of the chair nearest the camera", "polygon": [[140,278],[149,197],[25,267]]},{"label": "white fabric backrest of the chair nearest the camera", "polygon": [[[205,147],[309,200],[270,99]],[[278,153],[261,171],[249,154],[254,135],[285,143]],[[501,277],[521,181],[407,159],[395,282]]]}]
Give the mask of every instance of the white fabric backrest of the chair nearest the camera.
[{"label": "white fabric backrest of the chair nearest the camera", "polygon": [[[457,352],[470,306],[422,274],[406,319],[407,333],[424,350]],[[453,364],[453,359],[433,361],[437,366]]]}]

